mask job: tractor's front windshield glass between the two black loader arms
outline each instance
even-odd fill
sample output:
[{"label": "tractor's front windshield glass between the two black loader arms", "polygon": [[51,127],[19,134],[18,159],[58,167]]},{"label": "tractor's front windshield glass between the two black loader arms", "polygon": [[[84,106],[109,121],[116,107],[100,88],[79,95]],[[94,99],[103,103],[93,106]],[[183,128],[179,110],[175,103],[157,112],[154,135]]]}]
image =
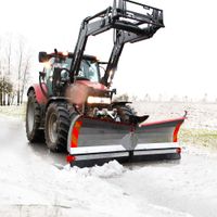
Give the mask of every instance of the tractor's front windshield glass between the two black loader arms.
[{"label": "tractor's front windshield glass between the two black loader arms", "polygon": [[82,60],[80,64],[80,69],[78,73],[78,78],[87,78],[90,81],[99,82],[99,67],[98,63],[90,60]]}]

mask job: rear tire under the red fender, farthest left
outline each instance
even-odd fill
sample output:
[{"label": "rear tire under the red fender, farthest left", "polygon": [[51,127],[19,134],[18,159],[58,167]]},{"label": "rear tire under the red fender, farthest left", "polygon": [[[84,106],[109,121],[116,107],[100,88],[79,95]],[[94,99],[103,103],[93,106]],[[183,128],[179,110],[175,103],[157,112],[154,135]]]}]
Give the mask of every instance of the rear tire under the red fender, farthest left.
[{"label": "rear tire under the red fender, farthest left", "polygon": [[28,93],[28,101],[26,106],[26,136],[29,142],[44,141],[43,130],[40,130],[41,108],[36,100],[35,91]]}]

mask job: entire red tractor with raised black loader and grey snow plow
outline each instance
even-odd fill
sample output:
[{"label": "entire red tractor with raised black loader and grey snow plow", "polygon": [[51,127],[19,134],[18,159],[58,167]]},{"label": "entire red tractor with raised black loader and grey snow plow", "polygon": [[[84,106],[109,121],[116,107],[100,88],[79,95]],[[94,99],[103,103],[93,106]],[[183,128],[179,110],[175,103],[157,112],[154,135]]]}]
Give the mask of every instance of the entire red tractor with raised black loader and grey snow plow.
[{"label": "entire red tractor with raised black loader and grey snow plow", "polygon": [[[177,135],[186,117],[146,123],[149,115],[137,116],[130,102],[114,101],[116,89],[111,89],[125,43],[149,39],[162,27],[162,10],[114,0],[113,7],[82,21],[73,53],[39,52],[44,67],[39,84],[27,91],[29,142],[44,138],[51,151],[67,151],[67,162],[79,166],[114,158],[180,158]],[[107,62],[84,54],[89,36],[110,29],[114,30],[114,46]]]}]

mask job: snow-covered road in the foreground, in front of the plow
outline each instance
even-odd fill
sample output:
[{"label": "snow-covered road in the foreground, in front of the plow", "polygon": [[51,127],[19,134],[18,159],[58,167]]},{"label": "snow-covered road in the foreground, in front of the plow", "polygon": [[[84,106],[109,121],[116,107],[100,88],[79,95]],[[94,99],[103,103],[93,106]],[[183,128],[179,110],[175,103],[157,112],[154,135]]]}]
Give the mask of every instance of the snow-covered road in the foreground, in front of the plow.
[{"label": "snow-covered road in the foreground, in front of the plow", "polygon": [[217,155],[186,148],[177,162],[58,169],[63,154],[28,144],[0,117],[0,216],[216,217]]}]

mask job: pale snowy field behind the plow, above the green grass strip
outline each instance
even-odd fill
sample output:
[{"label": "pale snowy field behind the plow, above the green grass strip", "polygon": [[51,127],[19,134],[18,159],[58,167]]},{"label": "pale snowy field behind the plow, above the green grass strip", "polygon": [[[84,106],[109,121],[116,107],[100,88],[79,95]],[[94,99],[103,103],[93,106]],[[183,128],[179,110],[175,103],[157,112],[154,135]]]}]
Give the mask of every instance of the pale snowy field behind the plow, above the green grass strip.
[{"label": "pale snowy field behind the plow, above the green grass strip", "polygon": [[148,120],[176,118],[188,112],[184,128],[217,129],[217,103],[133,102],[138,114],[149,114]]}]

